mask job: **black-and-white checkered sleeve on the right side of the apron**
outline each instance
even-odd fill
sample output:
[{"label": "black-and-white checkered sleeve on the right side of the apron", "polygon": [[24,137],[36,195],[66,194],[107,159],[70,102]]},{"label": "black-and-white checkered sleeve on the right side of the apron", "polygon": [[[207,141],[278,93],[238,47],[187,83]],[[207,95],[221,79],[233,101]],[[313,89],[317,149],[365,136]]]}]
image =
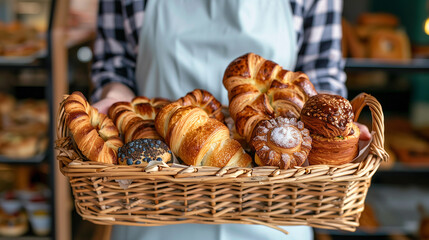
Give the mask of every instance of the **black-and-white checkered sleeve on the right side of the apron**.
[{"label": "black-and-white checkered sleeve on the right side of the apron", "polygon": [[296,70],[306,73],[317,91],[347,97],[341,52],[342,5],[341,0],[315,0],[306,4]]}]

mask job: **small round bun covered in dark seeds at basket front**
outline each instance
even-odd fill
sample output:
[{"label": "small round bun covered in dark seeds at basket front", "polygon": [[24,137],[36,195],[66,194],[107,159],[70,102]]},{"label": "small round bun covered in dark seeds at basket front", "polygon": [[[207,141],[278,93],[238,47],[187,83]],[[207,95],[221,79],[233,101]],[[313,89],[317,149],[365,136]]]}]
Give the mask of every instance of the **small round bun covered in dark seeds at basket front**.
[{"label": "small round bun covered in dark seeds at basket front", "polygon": [[167,144],[158,139],[137,139],[118,149],[121,165],[147,165],[150,161],[169,162],[172,159]]}]

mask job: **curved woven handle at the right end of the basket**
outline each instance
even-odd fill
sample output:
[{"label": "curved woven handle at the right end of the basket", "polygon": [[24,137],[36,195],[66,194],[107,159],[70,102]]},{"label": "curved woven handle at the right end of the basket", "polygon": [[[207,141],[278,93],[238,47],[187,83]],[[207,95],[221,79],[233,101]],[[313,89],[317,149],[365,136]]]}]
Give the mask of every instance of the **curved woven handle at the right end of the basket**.
[{"label": "curved woven handle at the right end of the basket", "polygon": [[373,141],[370,152],[379,156],[384,161],[389,159],[389,155],[384,150],[384,114],[381,104],[377,99],[367,93],[357,95],[351,102],[354,111],[354,121],[357,122],[360,113],[365,106],[368,106],[372,115]]}]

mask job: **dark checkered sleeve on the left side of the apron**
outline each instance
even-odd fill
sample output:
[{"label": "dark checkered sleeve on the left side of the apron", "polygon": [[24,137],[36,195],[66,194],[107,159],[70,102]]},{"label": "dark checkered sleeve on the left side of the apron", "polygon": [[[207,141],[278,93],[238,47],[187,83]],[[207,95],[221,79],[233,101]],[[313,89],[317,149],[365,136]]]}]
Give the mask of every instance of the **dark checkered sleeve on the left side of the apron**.
[{"label": "dark checkered sleeve on the left side of the apron", "polygon": [[[100,100],[103,86],[120,82],[135,91],[135,47],[127,36],[130,15],[122,1],[100,0],[97,17],[97,37],[92,64],[92,101]],[[132,34],[131,34],[132,37]],[[135,37],[135,36],[134,36]],[[135,43],[135,41],[134,41]]]}]

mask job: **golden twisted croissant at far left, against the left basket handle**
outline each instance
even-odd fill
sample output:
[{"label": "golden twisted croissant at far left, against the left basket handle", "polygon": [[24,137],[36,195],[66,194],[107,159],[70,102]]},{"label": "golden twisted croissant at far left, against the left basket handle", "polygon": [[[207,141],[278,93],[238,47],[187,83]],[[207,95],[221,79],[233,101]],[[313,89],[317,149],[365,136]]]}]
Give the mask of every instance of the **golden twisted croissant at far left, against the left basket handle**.
[{"label": "golden twisted croissant at far left, against the left basket handle", "polygon": [[117,164],[118,148],[123,143],[112,120],[91,107],[80,92],[69,95],[62,106],[67,126],[82,154],[91,161]]}]

